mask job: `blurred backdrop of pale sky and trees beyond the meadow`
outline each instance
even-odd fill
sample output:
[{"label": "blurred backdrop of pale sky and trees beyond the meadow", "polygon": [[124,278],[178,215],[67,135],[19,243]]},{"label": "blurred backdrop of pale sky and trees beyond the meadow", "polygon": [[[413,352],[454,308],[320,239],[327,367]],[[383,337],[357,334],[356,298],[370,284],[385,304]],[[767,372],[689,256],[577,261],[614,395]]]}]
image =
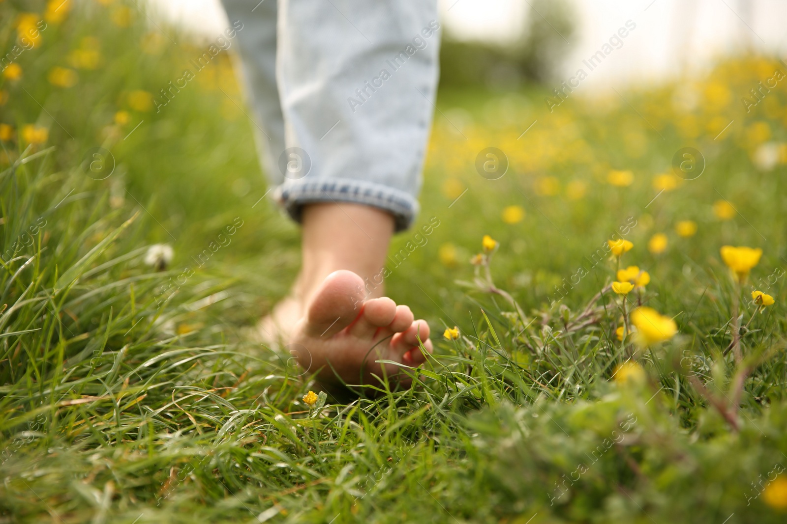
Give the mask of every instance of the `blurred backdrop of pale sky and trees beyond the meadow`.
[{"label": "blurred backdrop of pale sky and trees beyond the meadow", "polygon": [[[227,25],[220,0],[149,0],[195,36]],[[626,20],[634,38],[583,89],[700,75],[742,50],[787,55],[783,0],[440,0],[442,85],[511,89],[573,74]]]}]

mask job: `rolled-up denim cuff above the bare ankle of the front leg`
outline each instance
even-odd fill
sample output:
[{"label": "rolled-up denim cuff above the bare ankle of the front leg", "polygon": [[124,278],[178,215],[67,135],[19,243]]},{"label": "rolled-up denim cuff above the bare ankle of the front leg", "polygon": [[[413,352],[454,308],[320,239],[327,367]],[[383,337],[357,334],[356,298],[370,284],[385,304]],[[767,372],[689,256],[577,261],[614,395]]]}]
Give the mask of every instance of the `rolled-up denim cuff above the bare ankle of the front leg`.
[{"label": "rolled-up denim cuff above the bare ankle of the front leg", "polygon": [[276,192],[279,204],[299,223],[304,205],[313,202],[362,203],[388,211],[393,214],[396,232],[408,229],[419,211],[418,200],[408,192],[352,178],[287,180]]}]

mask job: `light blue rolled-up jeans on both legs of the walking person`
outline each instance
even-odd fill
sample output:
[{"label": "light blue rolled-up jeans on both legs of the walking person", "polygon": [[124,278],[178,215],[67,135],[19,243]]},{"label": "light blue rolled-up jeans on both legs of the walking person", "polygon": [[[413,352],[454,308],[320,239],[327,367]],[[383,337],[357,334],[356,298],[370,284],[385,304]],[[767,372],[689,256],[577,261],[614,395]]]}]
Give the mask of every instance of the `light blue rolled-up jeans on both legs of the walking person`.
[{"label": "light blue rolled-up jeans on both legs of the walking person", "polygon": [[275,196],[418,212],[438,79],[436,0],[223,0]]}]

